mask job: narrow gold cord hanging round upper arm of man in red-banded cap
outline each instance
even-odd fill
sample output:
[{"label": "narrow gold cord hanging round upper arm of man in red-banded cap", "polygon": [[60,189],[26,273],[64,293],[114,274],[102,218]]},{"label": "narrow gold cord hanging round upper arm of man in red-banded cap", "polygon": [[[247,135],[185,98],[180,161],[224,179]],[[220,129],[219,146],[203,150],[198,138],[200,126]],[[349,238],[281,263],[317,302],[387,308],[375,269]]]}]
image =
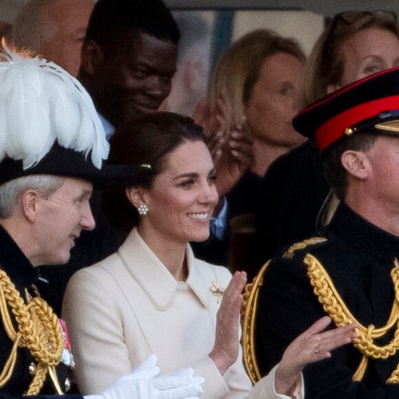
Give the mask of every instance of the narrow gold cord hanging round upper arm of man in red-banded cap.
[{"label": "narrow gold cord hanging round upper arm of man in red-banded cap", "polygon": [[241,327],[242,327],[242,349],[244,367],[252,384],[256,384],[261,379],[257,357],[255,354],[255,320],[257,316],[257,303],[259,287],[263,284],[263,274],[270,261],[262,266],[252,283],[244,288],[244,302],[241,308]]}]

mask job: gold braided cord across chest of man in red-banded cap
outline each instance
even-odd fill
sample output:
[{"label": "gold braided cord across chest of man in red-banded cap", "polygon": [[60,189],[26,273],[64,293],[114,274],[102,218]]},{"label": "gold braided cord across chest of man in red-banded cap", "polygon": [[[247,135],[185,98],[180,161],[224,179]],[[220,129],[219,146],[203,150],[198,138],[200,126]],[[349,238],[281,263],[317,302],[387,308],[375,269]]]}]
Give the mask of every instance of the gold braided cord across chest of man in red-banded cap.
[{"label": "gold braided cord across chest of man in red-banded cap", "polygon": [[[398,260],[394,261],[394,268],[391,270],[391,277],[393,280],[393,287],[395,289],[395,300],[393,301],[391,314],[387,325],[384,327],[376,328],[374,325],[365,327],[359,323],[358,320],[349,311],[341,296],[338,294],[334,283],[330,279],[330,276],[325,271],[319,260],[312,255],[306,255],[304,263],[308,266],[308,277],[310,283],[314,288],[314,294],[319,299],[323,309],[331,317],[334,323],[341,327],[349,323],[356,323],[359,327],[356,328],[356,332],[359,337],[354,340],[354,346],[363,354],[363,358],[360,362],[356,373],[354,374],[353,380],[362,380],[369,358],[374,359],[386,359],[396,354],[399,348],[399,312],[398,312],[398,299],[399,299],[399,263]],[[374,343],[376,338],[384,336],[391,328],[396,325],[396,331],[391,342],[385,346],[378,346]],[[399,369],[393,371],[391,377],[387,380],[390,383],[399,382]]]}]

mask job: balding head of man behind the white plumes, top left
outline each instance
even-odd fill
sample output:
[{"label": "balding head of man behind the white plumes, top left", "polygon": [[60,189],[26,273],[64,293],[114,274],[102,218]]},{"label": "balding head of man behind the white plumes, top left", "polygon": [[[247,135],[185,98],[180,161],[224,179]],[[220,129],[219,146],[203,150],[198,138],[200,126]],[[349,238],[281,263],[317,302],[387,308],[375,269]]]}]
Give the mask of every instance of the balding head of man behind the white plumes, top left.
[{"label": "balding head of man behind the white plumes, top left", "polygon": [[93,0],[32,0],[14,23],[12,41],[77,76],[80,48],[93,8]]}]

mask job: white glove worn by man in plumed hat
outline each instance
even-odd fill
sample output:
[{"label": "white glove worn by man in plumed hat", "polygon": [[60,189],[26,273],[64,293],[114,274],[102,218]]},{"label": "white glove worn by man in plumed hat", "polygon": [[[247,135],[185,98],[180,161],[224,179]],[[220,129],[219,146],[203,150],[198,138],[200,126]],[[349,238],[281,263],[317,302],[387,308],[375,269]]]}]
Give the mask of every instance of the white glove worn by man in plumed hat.
[{"label": "white glove worn by man in plumed hat", "polygon": [[193,377],[191,368],[160,374],[155,355],[149,356],[130,374],[118,378],[98,395],[85,399],[195,399],[202,392],[202,377]]}]

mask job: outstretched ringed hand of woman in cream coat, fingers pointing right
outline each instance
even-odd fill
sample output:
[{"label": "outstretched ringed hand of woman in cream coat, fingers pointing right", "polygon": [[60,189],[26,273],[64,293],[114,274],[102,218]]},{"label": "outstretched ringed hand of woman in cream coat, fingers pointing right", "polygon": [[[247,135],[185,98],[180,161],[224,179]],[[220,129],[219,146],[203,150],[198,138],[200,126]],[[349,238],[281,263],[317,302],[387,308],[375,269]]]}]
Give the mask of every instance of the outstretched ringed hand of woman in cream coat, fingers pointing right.
[{"label": "outstretched ringed hand of woman in cream coat, fingers pointing right", "polygon": [[274,381],[277,393],[288,395],[305,365],[330,358],[333,349],[358,337],[356,324],[322,332],[330,323],[330,317],[322,317],[285,349]]}]

